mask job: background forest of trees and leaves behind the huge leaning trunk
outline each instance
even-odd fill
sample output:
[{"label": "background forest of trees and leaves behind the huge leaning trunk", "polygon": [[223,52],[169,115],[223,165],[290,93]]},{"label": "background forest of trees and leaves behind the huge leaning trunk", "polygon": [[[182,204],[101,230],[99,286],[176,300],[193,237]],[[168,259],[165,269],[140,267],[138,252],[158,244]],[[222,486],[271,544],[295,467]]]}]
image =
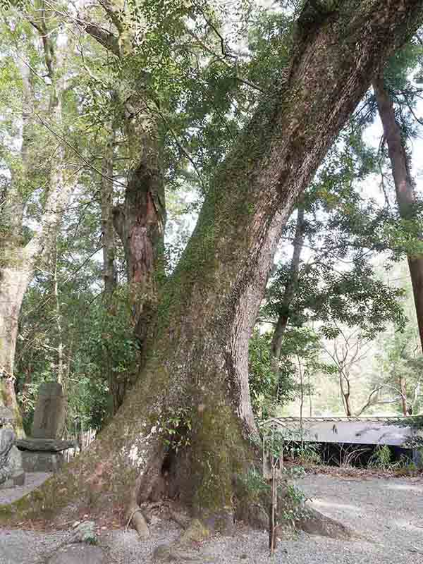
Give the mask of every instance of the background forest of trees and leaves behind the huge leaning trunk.
[{"label": "background forest of trees and leaves behind the huge leaning trunk", "polygon": [[[303,3],[2,4],[3,402],[29,432],[57,380],[73,436],[134,381],[157,284]],[[423,411],[422,61],[415,35],[288,221],[250,338],[257,417]]]}]

